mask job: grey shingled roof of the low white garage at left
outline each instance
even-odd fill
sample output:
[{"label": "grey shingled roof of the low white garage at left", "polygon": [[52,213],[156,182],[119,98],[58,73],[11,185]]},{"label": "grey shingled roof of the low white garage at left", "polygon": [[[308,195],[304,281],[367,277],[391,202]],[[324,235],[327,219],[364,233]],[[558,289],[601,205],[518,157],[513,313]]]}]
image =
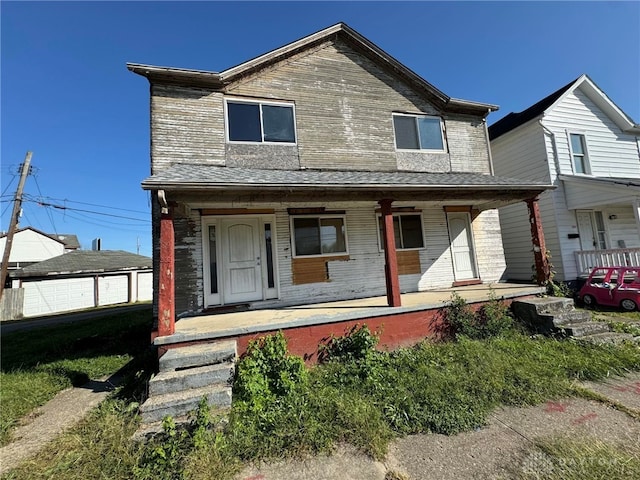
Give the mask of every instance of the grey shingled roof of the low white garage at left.
[{"label": "grey shingled roof of the low white garage at left", "polygon": [[152,268],[151,258],[122,250],[78,250],[34,263],[11,277],[42,277],[74,273],[103,273]]}]

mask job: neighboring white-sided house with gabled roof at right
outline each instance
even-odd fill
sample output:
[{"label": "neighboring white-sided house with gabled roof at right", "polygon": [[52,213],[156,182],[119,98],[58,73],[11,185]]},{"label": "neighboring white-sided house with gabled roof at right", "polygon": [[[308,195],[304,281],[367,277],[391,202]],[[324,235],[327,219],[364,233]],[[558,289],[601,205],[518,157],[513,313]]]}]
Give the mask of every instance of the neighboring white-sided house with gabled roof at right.
[{"label": "neighboring white-sided house with gabled roof at right", "polygon": [[[489,128],[495,174],[557,186],[540,195],[556,279],[640,265],[640,125],[587,76]],[[507,277],[530,280],[523,204],[500,209]]]}]

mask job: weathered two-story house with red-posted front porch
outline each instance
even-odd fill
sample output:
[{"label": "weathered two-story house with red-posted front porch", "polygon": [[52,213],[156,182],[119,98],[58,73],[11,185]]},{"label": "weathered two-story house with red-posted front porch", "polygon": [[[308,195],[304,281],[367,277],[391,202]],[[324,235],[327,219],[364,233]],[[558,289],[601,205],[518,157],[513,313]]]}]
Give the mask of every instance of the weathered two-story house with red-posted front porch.
[{"label": "weathered two-story house with red-posted front porch", "polygon": [[493,175],[497,107],[448,97],[345,24],[219,73],[128,68],[151,85],[142,186],[154,199],[154,343],[169,350],[149,421],[178,401],[158,386],[177,359],[193,355],[180,368],[196,376],[224,341],[232,355],[282,329],[309,359],[358,321],[390,347],[419,341],[447,288],[486,301],[502,278],[497,207],[527,201],[538,224],[533,198],[548,186]]}]

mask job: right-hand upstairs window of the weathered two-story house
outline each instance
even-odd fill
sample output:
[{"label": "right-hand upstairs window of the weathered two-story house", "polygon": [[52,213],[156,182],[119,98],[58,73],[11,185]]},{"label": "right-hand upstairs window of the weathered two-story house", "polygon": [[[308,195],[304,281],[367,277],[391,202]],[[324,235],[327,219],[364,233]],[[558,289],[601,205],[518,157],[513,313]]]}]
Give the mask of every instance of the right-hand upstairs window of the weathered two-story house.
[{"label": "right-hand upstairs window of the weathered two-story house", "polygon": [[439,117],[394,113],[393,129],[398,150],[444,151],[444,133]]}]

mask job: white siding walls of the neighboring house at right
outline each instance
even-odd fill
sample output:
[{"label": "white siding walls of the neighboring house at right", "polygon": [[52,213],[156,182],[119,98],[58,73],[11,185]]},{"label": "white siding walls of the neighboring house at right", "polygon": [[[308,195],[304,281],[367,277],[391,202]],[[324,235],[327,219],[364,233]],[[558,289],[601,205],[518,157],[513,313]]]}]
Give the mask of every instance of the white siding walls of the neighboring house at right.
[{"label": "white siding walls of the neighboring house at right", "polygon": [[[558,175],[573,175],[569,149],[569,133],[585,135],[591,173],[598,177],[640,179],[638,139],[625,134],[579,88],[567,95],[542,118],[545,129],[533,120],[491,142],[495,174],[515,178],[546,181],[557,188],[540,196],[540,213],[547,244],[557,280],[573,280],[577,277],[574,252],[580,250],[580,241],[569,238],[578,233],[575,210],[567,206],[567,193]],[[545,171],[546,170],[546,171]],[[622,188],[622,187],[621,187]],[[574,195],[574,194],[572,194]],[[624,189],[620,190],[622,199]],[[573,203],[580,200],[597,200],[594,189],[584,189],[573,196]],[[631,197],[630,197],[631,198]],[[611,198],[591,208],[603,211],[605,218],[622,208],[620,221],[615,225],[607,221],[611,246],[624,240],[630,247],[640,243],[638,226],[633,218],[631,203],[611,205]],[[593,203],[593,202],[591,202]],[[616,202],[618,203],[618,202]],[[524,205],[510,205],[500,209],[500,223],[504,239],[507,278],[528,280],[531,278],[533,254],[531,252],[530,227],[524,217]],[[611,230],[612,229],[612,230]],[[635,229],[635,233],[634,233]]]}]

